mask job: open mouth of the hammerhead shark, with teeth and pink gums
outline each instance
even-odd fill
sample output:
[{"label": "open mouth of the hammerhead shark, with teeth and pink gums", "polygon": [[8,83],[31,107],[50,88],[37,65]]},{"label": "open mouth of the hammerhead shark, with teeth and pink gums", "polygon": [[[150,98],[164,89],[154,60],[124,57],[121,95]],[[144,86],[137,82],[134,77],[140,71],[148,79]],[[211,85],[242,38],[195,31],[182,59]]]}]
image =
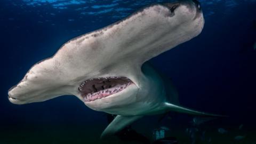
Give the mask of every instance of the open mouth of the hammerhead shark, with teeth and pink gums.
[{"label": "open mouth of the hammerhead shark, with teeth and pink gums", "polygon": [[78,87],[78,91],[83,97],[84,102],[90,102],[118,93],[132,83],[133,82],[126,77],[92,78],[84,81]]}]

